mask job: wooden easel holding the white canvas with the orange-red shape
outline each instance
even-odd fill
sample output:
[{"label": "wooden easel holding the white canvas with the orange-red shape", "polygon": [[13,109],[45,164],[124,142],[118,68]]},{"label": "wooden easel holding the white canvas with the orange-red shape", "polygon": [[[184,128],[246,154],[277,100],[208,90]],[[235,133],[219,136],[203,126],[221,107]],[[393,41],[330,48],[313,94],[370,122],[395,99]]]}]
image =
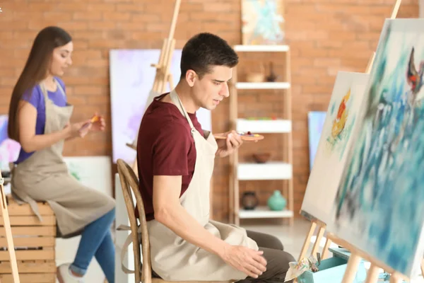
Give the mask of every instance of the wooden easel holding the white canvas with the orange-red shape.
[{"label": "wooden easel holding the white canvas with the orange-red shape", "polygon": [[[396,18],[397,13],[399,11],[399,7],[401,6],[401,2],[402,2],[402,0],[396,0],[396,3],[394,4],[393,10],[391,11],[391,16],[390,16],[391,19]],[[372,52],[372,55],[371,55],[371,57],[370,57],[370,59],[368,60],[368,63],[367,63],[367,68],[365,69],[365,74],[370,74],[370,71],[372,69],[372,64],[374,64],[374,59],[375,59],[375,52]],[[326,224],[324,224],[324,222],[319,221],[317,219],[313,219],[311,221],[310,230],[307,233],[307,236],[305,238],[305,242],[303,243],[302,250],[300,250],[299,260],[302,260],[302,258],[305,258],[307,250],[310,247],[310,239],[314,235],[314,232],[315,232],[315,229],[317,228],[317,226],[319,227],[319,230],[318,230],[318,233],[317,233],[317,238],[315,239],[315,242],[314,242],[314,246],[312,248],[312,255],[317,254],[319,242],[321,241],[322,237],[324,236]],[[326,256],[328,255],[328,249],[329,249],[330,245],[331,245],[331,239],[329,239],[329,237],[326,237],[326,242],[325,242],[324,248],[322,250],[322,255],[321,255],[322,259],[325,259]],[[423,276],[424,276],[424,261],[423,261],[423,265],[422,265],[421,269],[423,271]]]}]

